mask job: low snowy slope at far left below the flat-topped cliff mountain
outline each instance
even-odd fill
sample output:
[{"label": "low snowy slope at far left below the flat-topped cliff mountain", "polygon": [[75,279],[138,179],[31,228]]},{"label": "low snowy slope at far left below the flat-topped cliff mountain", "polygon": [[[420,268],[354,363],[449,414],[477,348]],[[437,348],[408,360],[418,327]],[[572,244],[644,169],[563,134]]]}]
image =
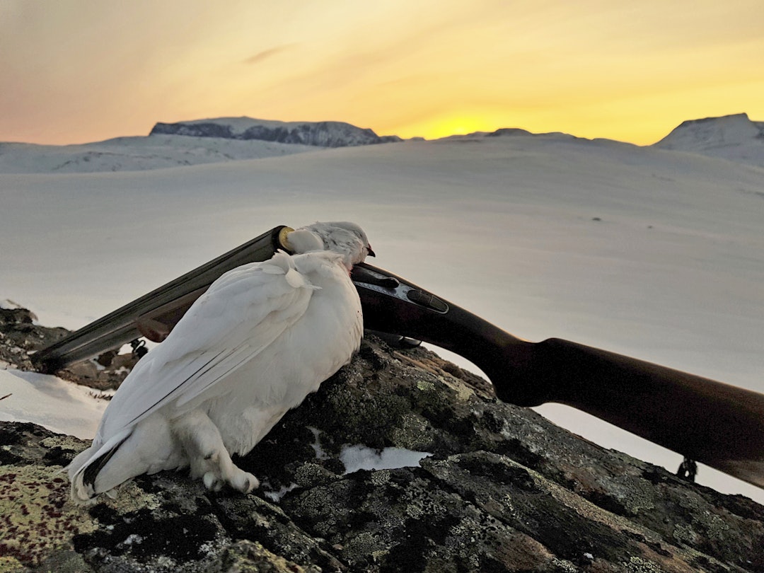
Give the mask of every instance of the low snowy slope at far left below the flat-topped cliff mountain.
[{"label": "low snowy slope at far left below the flat-topped cliff mountain", "polygon": [[261,159],[305,151],[316,151],[316,147],[272,141],[181,138],[158,134],[82,145],[0,143],[0,173],[144,171],[199,163]]}]

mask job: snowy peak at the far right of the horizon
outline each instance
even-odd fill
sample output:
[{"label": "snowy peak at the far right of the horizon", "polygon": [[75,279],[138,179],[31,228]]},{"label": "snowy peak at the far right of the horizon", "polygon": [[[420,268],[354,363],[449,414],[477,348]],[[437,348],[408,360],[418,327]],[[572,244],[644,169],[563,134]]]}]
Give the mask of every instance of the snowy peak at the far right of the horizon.
[{"label": "snowy peak at the far right of the horizon", "polygon": [[764,121],[747,114],[684,121],[652,147],[721,157],[764,167]]}]

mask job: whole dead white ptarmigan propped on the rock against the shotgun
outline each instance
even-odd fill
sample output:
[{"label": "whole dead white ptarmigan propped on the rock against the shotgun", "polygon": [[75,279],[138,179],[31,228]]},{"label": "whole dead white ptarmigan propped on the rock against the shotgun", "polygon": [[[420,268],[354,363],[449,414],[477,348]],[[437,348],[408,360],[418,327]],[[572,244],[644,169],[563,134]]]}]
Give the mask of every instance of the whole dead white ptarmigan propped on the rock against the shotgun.
[{"label": "whole dead white ptarmigan propped on the rock against the shotgun", "polygon": [[222,275],[135,365],[91,447],[67,468],[73,500],[184,466],[212,490],[259,485],[231,454],[249,452],[358,351],[363,317],[350,270],[374,255],[349,222],[314,223],[287,240],[295,254]]}]

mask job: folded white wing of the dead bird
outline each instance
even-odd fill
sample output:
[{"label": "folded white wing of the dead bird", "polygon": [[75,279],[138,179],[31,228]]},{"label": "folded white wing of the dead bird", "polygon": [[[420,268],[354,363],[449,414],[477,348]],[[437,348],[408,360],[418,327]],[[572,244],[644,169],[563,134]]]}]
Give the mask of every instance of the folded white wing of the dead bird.
[{"label": "folded white wing of the dead bird", "polygon": [[313,290],[289,255],[238,267],[196,300],[172,334],[136,364],[115,394],[95,442],[163,406],[173,414],[225,393],[221,380],[257,356],[306,312]]}]

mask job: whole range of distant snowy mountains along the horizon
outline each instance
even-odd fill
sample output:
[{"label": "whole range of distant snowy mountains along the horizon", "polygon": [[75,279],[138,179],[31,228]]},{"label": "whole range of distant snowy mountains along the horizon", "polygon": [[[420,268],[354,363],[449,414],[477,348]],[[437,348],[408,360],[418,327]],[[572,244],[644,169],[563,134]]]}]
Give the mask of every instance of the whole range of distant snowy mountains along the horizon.
[{"label": "whole range of distant snowy mountains along the horizon", "polygon": [[[520,128],[451,135],[435,144],[476,143],[490,139],[578,141],[582,145],[631,145],[613,140],[588,140],[552,132],[536,134]],[[422,138],[414,138],[424,142]],[[182,167],[318,153],[331,147],[357,147],[403,141],[379,136],[371,129],[342,121],[267,121],[248,117],[157,123],[147,136],[113,138],[89,144],[37,145],[0,142],[0,173],[98,173]],[[660,150],[764,167],[764,121],[741,113],[684,121],[661,141]]]}]

